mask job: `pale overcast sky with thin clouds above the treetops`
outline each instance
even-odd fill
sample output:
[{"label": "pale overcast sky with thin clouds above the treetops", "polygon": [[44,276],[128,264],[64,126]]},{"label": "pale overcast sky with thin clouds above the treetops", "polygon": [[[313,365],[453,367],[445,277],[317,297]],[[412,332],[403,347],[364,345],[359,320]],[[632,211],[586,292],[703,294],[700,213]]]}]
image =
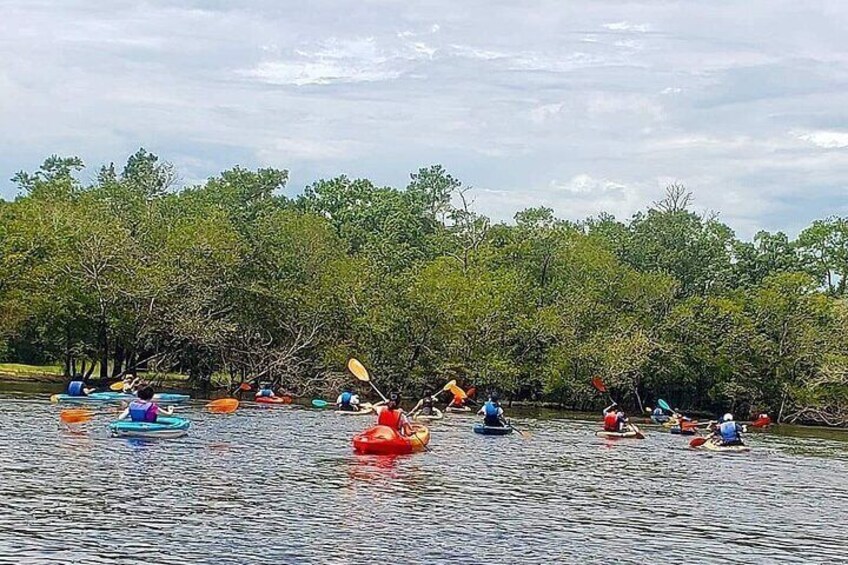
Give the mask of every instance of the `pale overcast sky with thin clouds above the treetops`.
[{"label": "pale overcast sky with thin clouds above the treetops", "polygon": [[738,234],[848,213],[848,2],[0,0],[0,195],[138,147],[627,218],[670,181]]}]

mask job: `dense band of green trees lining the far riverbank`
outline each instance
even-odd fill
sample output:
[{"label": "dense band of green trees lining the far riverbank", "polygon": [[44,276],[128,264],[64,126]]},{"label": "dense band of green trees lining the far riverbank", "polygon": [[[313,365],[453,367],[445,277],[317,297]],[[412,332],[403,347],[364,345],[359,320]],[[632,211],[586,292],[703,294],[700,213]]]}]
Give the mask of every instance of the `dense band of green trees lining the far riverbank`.
[{"label": "dense band of green trees lining the far riverbank", "polygon": [[767,410],[848,423],[848,220],[740,241],[680,186],[629,221],[492,224],[441,167],[403,189],[235,168],[177,189],[140,150],[86,184],[51,157],[0,201],[0,360],[338,386],[349,356],[410,396]]}]

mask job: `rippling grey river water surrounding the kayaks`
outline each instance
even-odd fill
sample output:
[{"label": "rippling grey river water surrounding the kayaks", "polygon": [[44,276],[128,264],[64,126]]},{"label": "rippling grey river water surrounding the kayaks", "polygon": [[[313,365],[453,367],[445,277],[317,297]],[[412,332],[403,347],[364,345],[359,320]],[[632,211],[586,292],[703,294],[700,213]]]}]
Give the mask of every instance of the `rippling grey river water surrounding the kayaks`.
[{"label": "rippling grey river water surrounding the kayaks", "polygon": [[[751,434],[748,454],[645,428],[433,423],[432,452],[353,453],[373,416],[243,403],[181,410],[176,440],[67,428],[0,398],[0,563],[848,563],[848,436]],[[788,434],[786,433],[788,432]]]}]

